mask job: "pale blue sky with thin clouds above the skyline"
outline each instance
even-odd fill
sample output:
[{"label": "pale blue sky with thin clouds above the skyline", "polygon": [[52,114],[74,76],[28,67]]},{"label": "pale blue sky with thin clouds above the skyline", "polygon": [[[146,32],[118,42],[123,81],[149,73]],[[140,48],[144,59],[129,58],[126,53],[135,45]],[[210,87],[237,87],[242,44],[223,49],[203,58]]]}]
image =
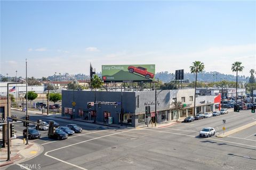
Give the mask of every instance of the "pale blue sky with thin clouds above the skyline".
[{"label": "pale blue sky with thin clouds above the skyline", "polygon": [[256,67],[255,1],[1,1],[1,74],[89,74],[107,64],[156,64],[240,74]]}]

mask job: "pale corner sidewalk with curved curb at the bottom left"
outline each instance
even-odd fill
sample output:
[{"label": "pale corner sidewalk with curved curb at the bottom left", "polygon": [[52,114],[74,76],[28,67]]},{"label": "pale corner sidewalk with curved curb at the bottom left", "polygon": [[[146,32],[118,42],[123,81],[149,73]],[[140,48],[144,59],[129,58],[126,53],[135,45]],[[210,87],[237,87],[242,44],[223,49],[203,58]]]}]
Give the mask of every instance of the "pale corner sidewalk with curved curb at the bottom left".
[{"label": "pale corner sidewalk with curved curb at the bottom left", "polygon": [[[26,142],[25,142],[26,143]],[[7,159],[7,147],[1,148],[0,152],[0,167],[4,169],[5,166],[11,164],[17,164],[20,162],[24,162],[28,159],[34,158],[37,155],[41,154],[44,150],[42,146],[39,146],[37,143],[33,143],[29,141],[29,145],[23,143],[23,138],[18,137],[17,139],[12,139],[12,146],[10,147],[11,155],[10,161],[6,161]]]}]

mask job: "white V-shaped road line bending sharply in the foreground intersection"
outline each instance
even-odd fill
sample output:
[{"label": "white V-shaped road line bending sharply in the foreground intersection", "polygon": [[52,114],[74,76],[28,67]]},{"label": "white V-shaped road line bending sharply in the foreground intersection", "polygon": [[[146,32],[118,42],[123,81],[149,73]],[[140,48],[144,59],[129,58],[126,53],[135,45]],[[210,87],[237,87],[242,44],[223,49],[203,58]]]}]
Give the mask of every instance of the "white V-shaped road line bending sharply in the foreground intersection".
[{"label": "white V-shaped road line bending sharply in the foreground intersection", "polygon": [[47,156],[47,157],[50,157],[50,158],[52,158],[52,159],[59,160],[59,161],[62,162],[62,163],[65,163],[65,164],[68,164],[68,165],[71,165],[71,166],[75,166],[75,167],[77,167],[77,168],[79,168],[79,169],[87,170],[87,169],[85,169],[85,168],[83,168],[83,167],[81,167],[81,166],[77,166],[77,165],[68,163],[68,162],[66,162],[66,161],[64,161],[64,160],[61,160],[61,159],[55,158],[55,157],[53,157],[53,156],[50,156],[50,155],[48,155],[48,153],[49,153],[49,152],[52,152],[52,151],[55,151],[55,150],[59,150],[59,149],[71,147],[71,146],[74,146],[74,145],[78,145],[78,144],[80,144],[80,143],[92,141],[92,140],[95,140],[95,139],[105,138],[105,137],[109,137],[109,136],[111,136],[111,135],[115,135],[115,134],[119,134],[119,133],[125,133],[125,132],[130,132],[130,131],[135,131],[135,130],[136,130],[136,129],[132,129],[132,130],[127,130],[127,131],[123,131],[123,132],[117,132],[117,133],[113,133],[113,134],[107,134],[107,135],[103,135],[103,136],[101,136],[101,137],[97,137],[97,138],[85,140],[85,141],[82,141],[82,142],[77,142],[77,143],[74,143],[74,144],[71,144],[71,145],[68,145],[68,146],[65,146],[65,147],[61,147],[61,148],[57,148],[57,149],[53,149],[53,150],[47,151],[47,152],[44,153],[44,155]]}]

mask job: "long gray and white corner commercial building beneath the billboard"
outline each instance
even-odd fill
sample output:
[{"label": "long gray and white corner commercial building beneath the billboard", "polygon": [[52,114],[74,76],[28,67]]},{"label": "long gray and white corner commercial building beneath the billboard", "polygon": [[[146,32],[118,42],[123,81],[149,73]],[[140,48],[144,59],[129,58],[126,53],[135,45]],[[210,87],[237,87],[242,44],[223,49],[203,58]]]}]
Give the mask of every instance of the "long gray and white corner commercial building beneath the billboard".
[{"label": "long gray and white corner commercial building beneath the billboard", "polygon": [[[94,120],[97,122],[107,122],[120,124],[130,124],[133,127],[146,123],[150,124],[150,117],[146,120],[145,108],[150,106],[151,115],[155,113],[155,97],[157,108],[157,123],[176,120],[179,117],[193,115],[194,89],[182,90],[157,90],[155,91],[77,91],[62,90],[62,116]],[[217,106],[218,96],[202,96],[196,98],[197,112],[213,112],[219,109]],[[101,103],[87,108],[87,103]],[[174,101],[175,100],[175,101]],[[122,102],[121,102],[122,101]],[[183,108],[180,111],[173,109],[173,103],[181,101]],[[75,106],[73,106],[75,102]],[[123,117],[121,108],[124,109]],[[110,120],[110,122],[108,122]]]}]

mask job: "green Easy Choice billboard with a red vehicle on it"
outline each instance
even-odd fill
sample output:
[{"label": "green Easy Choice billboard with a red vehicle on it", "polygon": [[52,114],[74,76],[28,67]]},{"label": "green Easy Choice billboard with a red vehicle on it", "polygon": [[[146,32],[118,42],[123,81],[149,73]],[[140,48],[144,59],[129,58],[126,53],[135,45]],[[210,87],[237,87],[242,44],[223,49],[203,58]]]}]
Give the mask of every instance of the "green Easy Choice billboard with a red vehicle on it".
[{"label": "green Easy Choice billboard with a red vehicle on it", "polygon": [[145,65],[102,65],[104,82],[154,81],[155,64]]}]

